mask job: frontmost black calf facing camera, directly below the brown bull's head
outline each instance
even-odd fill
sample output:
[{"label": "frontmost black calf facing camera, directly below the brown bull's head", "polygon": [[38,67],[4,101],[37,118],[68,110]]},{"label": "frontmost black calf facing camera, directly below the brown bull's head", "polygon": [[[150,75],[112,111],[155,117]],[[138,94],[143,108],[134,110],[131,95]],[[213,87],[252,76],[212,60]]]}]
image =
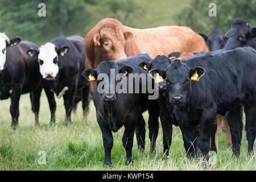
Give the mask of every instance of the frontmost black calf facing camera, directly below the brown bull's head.
[{"label": "frontmost black calf facing camera, directly below the brown bull's head", "polygon": [[[145,121],[143,119],[142,113],[148,110],[148,128],[151,142],[151,151],[155,149],[155,140],[158,135],[158,117],[159,117],[159,106],[157,100],[148,100],[148,92],[142,93],[142,88],[146,88],[146,84],[143,80],[139,81],[139,90],[137,93],[134,92],[135,85],[133,86],[133,93],[119,93],[117,90],[109,93],[109,88],[115,88],[120,81],[112,78],[104,81],[106,84],[106,90],[104,92],[99,92],[98,88],[102,87],[102,73],[105,73],[110,77],[111,69],[114,70],[113,76],[117,76],[118,73],[121,74],[122,79],[125,77],[127,80],[131,80],[129,73],[138,73],[139,75],[143,73],[146,77],[147,72],[139,69],[138,64],[142,61],[150,61],[151,57],[146,54],[141,54],[137,56],[130,56],[126,59],[117,61],[102,61],[97,69],[86,69],[82,74],[88,80],[96,80],[93,92],[93,102],[96,107],[96,116],[98,125],[100,125],[102,131],[103,144],[105,148],[105,165],[111,165],[111,150],[113,147],[113,136],[112,131],[117,132],[122,126],[125,126],[125,131],[123,133],[123,147],[126,150],[126,164],[132,163],[131,150],[133,147],[133,135],[134,130],[136,131],[137,142],[139,149],[144,150],[145,142]],[[125,75],[125,76],[123,76]],[[128,76],[129,75],[129,76]],[[138,80],[138,77],[135,77]],[[149,77],[152,82],[152,78]],[[134,80],[133,80],[134,81]],[[153,80],[154,81],[154,80]],[[128,82],[128,81],[127,81]],[[133,84],[135,81],[133,82]],[[152,82],[154,83],[154,82]],[[127,85],[130,88],[131,85]],[[144,86],[144,87],[143,87]],[[105,88],[104,87],[104,88]],[[138,88],[138,87],[137,87]],[[124,89],[124,88],[123,88]]]}]

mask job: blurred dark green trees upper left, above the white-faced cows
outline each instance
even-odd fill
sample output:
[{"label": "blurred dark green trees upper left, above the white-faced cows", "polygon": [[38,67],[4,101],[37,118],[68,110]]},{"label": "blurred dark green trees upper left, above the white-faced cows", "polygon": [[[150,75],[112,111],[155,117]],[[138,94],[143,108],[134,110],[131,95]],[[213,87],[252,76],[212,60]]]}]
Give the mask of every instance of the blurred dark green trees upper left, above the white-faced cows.
[{"label": "blurred dark green trees upper left, above the white-faced cows", "polygon": [[[46,17],[38,16],[40,2],[46,4]],[[86,16],[89,16],[86,5],[96,5],[97,2],[98,0],[0,0],[0,31],[6,31],[9,36],[18,33],[27,40],[34,40],[40,35],[46,36],[49,31],[56,29],[59,36],[64,36],[64,30],[71,30],[73,24],[86,24]]]}]

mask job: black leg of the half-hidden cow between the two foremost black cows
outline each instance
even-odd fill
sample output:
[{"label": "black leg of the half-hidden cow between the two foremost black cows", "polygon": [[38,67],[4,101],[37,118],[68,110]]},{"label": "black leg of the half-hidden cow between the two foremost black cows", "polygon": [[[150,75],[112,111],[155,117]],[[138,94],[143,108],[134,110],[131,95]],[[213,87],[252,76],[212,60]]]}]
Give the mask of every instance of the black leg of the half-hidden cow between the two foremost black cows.
[{"label": "black leg of the half-hidden cow between the two foremost black cows", "polygon": [[163,114],[160,113],[160,121],[163,129],[163,152],[166,156],[169,155],[169,148],[172,143],[172,122],[166,119]]}]

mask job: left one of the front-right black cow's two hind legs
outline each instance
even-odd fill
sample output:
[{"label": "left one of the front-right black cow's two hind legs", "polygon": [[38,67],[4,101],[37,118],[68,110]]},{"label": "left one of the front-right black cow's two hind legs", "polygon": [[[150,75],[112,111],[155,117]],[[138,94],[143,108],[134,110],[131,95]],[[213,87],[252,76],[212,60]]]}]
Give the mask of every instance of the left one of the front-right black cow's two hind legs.
[{"label": "left one of the front-right black cow's two hind legs", "polygon": [[233,155],[240,155],[240,146],[242,140],[242,129],[243,129],[243,121],[242,121],[242,106],[234,107],[234,109],[230,110],[228,115],[230,133],[232,136],[232,151]]}]

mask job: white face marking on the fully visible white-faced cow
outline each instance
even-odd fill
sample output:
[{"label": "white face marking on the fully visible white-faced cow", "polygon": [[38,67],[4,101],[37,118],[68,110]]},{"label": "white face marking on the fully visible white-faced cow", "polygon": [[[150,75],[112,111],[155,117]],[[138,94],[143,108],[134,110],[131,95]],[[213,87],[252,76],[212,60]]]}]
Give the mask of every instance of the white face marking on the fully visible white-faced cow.
[{"label": "white face marking on the fully visible white-faced cow", "polygon": [[[47,74],[51,74],[52,78],[55,78],[59,72],[59,67],[57,63],[53,63],[55,57],[58,57],[55,51],[55,45],[52,43],[46,43],[39,48],[38,61],[40,67],[40,73],[43,78],[46,78]],[[40,64],[40,60],[43,64]]]}]

